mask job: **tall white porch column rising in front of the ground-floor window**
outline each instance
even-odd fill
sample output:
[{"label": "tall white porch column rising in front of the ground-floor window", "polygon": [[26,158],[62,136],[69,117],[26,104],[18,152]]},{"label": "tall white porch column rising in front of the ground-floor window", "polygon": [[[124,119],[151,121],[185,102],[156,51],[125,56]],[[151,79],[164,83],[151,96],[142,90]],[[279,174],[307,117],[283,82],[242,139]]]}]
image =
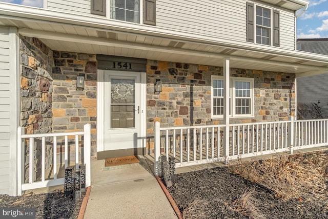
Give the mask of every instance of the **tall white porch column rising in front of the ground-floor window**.
[{"label": "tall white porch column rising in front of the ground-floor window", "polygon": [[230,91],[230,59],[223,59],[223,123],[226,125],[223,130],[223,156],[226,159],[226,164],[229,163],[229,112],[230,112],[230,103],[229,103],[229,91]]}]

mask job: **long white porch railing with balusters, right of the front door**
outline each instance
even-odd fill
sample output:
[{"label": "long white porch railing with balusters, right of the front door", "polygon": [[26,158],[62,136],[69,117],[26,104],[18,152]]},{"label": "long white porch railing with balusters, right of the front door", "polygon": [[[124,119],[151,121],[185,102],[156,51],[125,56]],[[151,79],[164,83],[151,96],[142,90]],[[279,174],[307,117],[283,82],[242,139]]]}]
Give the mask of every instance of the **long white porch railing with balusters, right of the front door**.
[{"label": "long white porch railing with balusters, right of the front door", "polygon": [[176,167],[211,163],[328,145],[328,120],[302,120],[226,125],[160,127],[155,123],[155,173],[159,157],[175,157]]}]

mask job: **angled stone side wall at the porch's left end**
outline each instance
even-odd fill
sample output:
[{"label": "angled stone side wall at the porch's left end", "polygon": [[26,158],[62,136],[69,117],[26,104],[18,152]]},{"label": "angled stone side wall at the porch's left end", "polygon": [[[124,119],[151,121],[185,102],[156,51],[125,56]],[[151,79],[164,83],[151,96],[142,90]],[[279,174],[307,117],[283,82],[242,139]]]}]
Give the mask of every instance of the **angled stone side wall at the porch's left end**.
[{"label": "angled stone side wall at the porch's left end", "polygon": [[[36,38],[21,37],[20,45],[20,126],[26,134],[49,133],[52,131],[52,51]],[[38,141],[38,140],[36,140]],[[52,145],[46,140],[46,169],[52,164]],[[26,140],[26,161],[29,157]],[[41,144],[34,148],[34,180],[41,176]],[[29,164],[25,165],[28,180]]]}]

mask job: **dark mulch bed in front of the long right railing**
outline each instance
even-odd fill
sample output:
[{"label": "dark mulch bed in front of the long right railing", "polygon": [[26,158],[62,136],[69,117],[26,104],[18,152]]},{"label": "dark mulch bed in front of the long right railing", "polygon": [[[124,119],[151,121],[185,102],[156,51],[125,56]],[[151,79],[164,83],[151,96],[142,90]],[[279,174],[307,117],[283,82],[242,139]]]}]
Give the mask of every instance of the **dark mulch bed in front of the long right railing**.
[{"label": "dark mulch bed in front of the long right railing", "polygon": [[[245,216],[233,210],[231,204],[236,198],[253,188],[251,201],[258,214]],[[168,190],[182,213],[189,204],[198,201],[194,215],[189,213],[186,218],[328,218],[328,198],[282,201],[267,188],[233,174],[229,167],[177,174]]]}]

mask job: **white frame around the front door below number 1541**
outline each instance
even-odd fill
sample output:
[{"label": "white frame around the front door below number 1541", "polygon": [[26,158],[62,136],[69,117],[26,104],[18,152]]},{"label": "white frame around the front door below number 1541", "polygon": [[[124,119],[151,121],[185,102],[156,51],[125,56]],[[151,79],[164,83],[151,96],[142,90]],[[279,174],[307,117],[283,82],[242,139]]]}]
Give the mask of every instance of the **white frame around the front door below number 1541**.
[{"label": "white frame around the front door below number 1541", "polygon": [[[105,151],[104,144],[104,101],[105,101],[105,71],[97,71],[97,152]],[[124,71],[120,71],[124,75]],[[130,72],[131,73],[131,72]],[[147,129],[147,81],[146,72],[140,73],[140,136],[138,137],[138,148],[146,147],[146,129]],[[144,97],[144,98],[142,98]]]}]

